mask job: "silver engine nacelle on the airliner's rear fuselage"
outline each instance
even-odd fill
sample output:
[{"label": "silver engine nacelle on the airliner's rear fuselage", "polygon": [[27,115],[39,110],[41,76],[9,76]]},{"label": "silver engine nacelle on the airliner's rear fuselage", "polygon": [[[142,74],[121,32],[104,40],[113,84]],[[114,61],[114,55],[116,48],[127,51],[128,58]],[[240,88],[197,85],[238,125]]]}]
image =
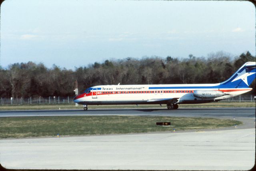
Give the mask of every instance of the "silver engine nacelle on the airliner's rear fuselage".
[{"label": "silver engine nacelle on the airliner's rear fuselage", "polygon": [[215,98],[226,95],[222,91],[216,90],[194,90],[194,96],[198,98]]}]

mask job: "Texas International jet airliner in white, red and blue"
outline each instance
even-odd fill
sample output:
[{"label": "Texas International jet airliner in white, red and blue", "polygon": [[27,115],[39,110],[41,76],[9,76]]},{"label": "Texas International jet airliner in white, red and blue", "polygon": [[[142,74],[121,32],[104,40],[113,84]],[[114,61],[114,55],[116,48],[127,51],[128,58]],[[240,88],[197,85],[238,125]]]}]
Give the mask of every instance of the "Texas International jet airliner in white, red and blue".
[{"label": "Texas International jet airliner in white, red and blue", "polygon": [[178,104],[218,102],[246,93],[252,88],[256,63],[245,63],[228,80],[216,84],[175,85],[100,85],[87,88],[74,102],[84,105],[102,104],[167,104],[177,109]]}]

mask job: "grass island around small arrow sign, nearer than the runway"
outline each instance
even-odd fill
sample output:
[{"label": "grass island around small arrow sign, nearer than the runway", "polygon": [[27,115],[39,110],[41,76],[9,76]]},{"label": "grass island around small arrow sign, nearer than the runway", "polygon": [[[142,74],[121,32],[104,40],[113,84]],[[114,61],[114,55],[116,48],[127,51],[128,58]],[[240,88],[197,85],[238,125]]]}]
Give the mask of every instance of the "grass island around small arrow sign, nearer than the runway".
[{"label": "grass island around small arrow sign, nearer than the runway", "polygon": [[[171,122],[174,127],[156,126]],[[214,129],[242,124],[236,120],[168,116],[31,116],[0,118],[0,139],[83,136],[158,131]]]}]

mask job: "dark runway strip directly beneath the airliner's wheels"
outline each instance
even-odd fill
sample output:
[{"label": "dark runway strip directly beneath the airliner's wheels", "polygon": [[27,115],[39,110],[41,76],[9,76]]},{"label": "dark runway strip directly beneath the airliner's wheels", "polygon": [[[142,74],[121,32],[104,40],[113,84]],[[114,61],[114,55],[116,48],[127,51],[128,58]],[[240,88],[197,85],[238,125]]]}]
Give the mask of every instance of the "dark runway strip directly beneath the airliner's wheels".
[{"label": "dark runway strip directly beneath the airliner's wheels", "polygon": [[167,109],[89,109],[84,110],[20,110],[0,111],[0,117],[10,116],[91,116],[91,115],[155,115],[184,117],[255,118],[255,108],[179,108]]}]

